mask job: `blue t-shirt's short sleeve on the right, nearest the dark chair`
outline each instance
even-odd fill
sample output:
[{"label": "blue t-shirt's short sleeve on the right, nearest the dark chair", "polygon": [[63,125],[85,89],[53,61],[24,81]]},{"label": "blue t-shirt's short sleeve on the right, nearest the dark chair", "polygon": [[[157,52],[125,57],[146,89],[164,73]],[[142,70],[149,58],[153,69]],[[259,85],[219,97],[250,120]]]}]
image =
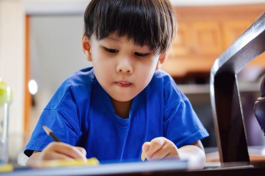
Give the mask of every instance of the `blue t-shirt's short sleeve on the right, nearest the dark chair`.
[{"label": "blue t-shirt's short sleeve on the right, nearest the dark chair", "polygon": [[189,100],[172,78],[164,85],[164,136],[178,148],[208,136]]}]

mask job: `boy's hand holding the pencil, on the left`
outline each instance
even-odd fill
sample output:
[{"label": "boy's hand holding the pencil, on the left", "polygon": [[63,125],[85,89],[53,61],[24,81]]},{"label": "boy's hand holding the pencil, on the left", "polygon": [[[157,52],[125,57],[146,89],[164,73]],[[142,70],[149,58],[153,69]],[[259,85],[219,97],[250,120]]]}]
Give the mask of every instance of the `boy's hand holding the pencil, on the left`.
[{"label": "boy's hand holding the pencil, on the left", "polygon": [[41,152],[40,160],[50,159],[86,159],[86,150],[63,142],[51,142]]}]

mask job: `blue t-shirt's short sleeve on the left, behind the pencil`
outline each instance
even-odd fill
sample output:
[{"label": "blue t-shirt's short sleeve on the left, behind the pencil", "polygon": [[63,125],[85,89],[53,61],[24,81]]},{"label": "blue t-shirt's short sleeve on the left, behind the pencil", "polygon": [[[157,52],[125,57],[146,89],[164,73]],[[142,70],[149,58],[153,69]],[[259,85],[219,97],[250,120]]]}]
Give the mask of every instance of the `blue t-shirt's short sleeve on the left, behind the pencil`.
[{"label": "blue t-shirt's short sleeve on the left, behind the pencil", "polygon": [[[55,97],[56,95],[52,99]],[[52,106],[50,106],[51,104]],[[34,150],[42,151],[46,145],[53,141],[42,129],[42,125],[50,128],[62,142],[71,145],[77,144],[82,132],[77,106],[70,88],[58,105],[55,106],[55,102],[50,102],[43,110],[25,148],[24,153],[27,156],[30,156]]]}]

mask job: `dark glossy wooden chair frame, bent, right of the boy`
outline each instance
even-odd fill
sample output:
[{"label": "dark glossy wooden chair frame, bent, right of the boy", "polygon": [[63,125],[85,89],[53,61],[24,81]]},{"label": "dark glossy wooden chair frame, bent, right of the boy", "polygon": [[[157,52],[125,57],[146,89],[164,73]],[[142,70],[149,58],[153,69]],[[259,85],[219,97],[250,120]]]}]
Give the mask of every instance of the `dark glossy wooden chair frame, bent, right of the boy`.
[{"label": "dark glossy wooden chair frame, bent, right of the boy", "polygon": [[[210,98],[222,166],[248,165],[243,113],[237,74],[265,51],[265,13],[214,63],[210,72]],[[243,163],[238,163],[243,162]]]}]

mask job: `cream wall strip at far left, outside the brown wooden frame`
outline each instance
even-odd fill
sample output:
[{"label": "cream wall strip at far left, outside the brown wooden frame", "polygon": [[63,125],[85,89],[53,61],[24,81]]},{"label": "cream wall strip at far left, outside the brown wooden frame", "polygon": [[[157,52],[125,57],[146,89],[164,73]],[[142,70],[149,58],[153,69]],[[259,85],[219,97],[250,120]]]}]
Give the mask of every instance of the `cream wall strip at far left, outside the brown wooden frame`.
[{"label": "cream wall strip at far left, outside the brown wooden frame", "polygon": [[24,17],[25,11],[20,1],[0,1],[0,77],[13,93],[9,119],[9,153],[13,158],[22,150],[23,142]]}]

